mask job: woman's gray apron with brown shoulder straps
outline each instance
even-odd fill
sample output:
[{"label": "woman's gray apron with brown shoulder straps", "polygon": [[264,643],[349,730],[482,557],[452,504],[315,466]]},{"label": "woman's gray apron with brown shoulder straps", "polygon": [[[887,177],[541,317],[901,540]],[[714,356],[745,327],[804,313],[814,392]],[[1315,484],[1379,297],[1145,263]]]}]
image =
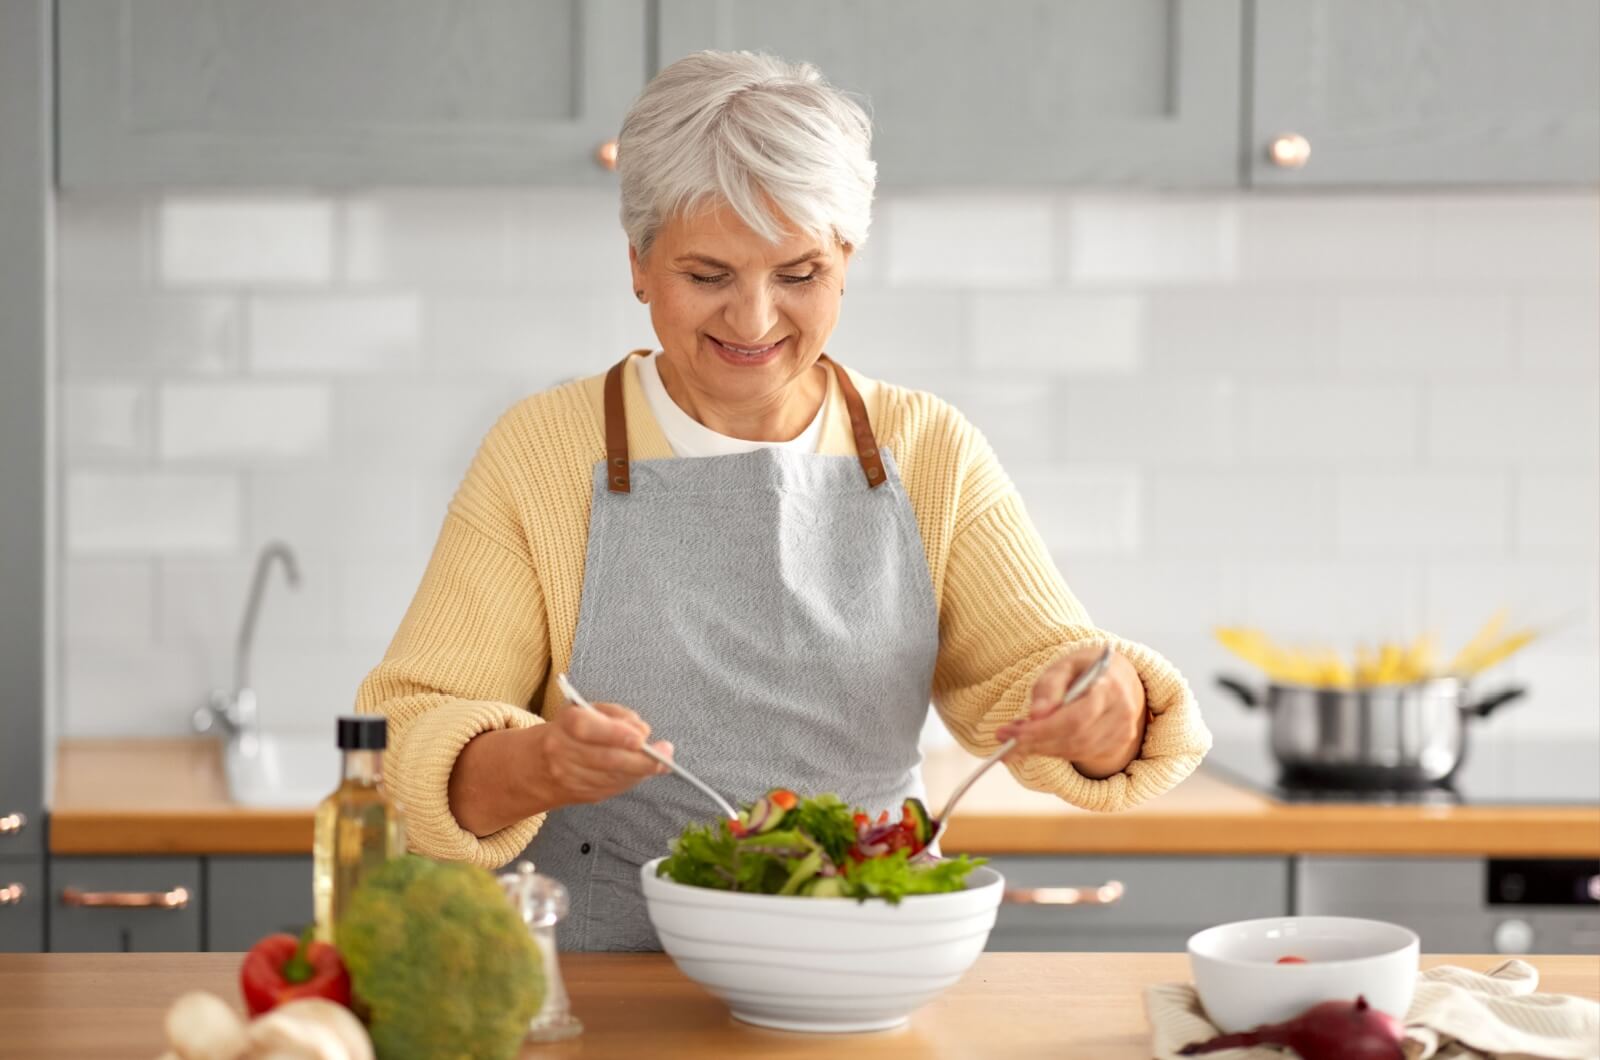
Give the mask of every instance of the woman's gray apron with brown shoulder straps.
[{"label": "woman's gray apron with brown shoulder straps", "polygon": [[[570,673],[590,700],[638,711],[734,804],[790,788],[898,813],[922,794],[939,615],[893,456],[827,363],[856,456],[630,461],[611,368]],[[552,810],[525,857],[571,893],[560,948],[659,950],[638,866],[717,817],[670,775]]]}]

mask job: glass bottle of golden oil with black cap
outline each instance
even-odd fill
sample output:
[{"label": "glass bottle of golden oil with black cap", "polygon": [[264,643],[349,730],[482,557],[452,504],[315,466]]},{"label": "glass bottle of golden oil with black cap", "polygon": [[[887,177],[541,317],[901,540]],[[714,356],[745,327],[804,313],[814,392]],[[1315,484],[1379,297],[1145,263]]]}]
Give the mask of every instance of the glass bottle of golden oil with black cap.
[{"label": "glass bottle of golden oil with black cap", "polygon": [[336,942],[339,919],[362,879],[405,853],[400,807],[382,788],[387,743],[389,719],[373,714],[339,719],[344,777],[317,807],[312,841],[312,895],[320,942]]}]

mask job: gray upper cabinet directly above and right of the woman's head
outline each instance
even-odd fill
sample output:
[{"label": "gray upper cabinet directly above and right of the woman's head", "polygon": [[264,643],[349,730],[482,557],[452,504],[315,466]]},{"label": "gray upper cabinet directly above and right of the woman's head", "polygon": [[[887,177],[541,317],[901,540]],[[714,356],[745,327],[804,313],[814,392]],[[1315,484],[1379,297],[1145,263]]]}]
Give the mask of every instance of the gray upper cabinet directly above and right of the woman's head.
[{"label": "gray upper cabinet directly above and right of the woman's head", "polygon": [[658,61],[806,59],[867,98],[888,186],[1238,183],[1235,0],[659,0]]}]

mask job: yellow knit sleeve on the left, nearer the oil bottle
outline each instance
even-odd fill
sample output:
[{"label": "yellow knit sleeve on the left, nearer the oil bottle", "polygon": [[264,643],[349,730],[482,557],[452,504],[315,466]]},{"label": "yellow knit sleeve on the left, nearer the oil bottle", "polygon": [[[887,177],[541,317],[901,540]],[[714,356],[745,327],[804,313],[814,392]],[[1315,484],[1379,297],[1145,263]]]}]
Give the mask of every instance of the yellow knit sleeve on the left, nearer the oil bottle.
[{"label": "yellow knit sleeve on the left, nearer the oil bottle", "polygon": [[515,858],[544,815],[474,836],[450,812],[450,773],[478,733],[541,722],[528,703],[550,660],[544,592],[494,439],[451,500],[411,607],[357,692],[357,711],[389,719],[384,780],[410,847],[485,868]]}]

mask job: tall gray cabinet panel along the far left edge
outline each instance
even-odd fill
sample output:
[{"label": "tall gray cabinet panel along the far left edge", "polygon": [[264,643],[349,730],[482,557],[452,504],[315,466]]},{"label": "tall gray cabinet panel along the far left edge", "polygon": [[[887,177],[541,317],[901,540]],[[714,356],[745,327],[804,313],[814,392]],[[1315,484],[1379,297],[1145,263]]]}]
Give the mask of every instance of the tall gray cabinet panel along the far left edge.
[{"label": "tall gray cabinet panel along the far left edge", "polygon": [[45,853],[50,56],[50,3],[0,5],[0,885]]}]

